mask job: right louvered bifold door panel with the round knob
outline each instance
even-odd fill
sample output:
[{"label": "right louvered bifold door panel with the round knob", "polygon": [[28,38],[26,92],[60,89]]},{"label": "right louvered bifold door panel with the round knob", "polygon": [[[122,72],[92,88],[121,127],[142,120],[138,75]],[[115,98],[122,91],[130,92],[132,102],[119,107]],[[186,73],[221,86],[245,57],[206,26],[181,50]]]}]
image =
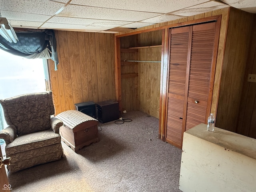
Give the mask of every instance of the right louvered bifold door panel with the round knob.
[{"label": "right louvered bifold door panel with the round knob", "polygon": [[206,123],[216,22],[194,25],[185,131]]}]

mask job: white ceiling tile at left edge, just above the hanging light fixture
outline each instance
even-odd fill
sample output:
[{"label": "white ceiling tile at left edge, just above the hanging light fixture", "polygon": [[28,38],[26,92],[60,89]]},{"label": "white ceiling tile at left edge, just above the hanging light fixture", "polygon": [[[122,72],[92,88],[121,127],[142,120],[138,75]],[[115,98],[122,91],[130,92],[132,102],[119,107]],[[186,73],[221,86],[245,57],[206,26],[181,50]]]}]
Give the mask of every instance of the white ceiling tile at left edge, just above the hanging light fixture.
[{"label": "white ceiling tile at left edge, just above the hanging light fixture", "polygon": [[7,20],[24,20],[24,21],[37,21],[37,22],[44,22],[50,16],[48,15],[39,15],[39,14],[32,14],[32,13],[22,13],[22,12],[12,12],[12,11],[2,11],[2,17],[6,17]]}]

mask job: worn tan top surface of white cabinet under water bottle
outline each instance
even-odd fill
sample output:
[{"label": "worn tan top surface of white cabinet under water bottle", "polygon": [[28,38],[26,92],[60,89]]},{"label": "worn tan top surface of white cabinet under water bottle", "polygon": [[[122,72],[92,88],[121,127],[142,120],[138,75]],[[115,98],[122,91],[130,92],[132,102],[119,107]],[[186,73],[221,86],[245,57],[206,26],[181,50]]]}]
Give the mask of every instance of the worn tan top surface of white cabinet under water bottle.
[{"label": "worn tan top surface of white cabinet under water bottle", "polygon": [[217,127],[214,127],[214,132],[206,128],[206,124],[199,124],[185,133],[256,159],[256,139]]}]

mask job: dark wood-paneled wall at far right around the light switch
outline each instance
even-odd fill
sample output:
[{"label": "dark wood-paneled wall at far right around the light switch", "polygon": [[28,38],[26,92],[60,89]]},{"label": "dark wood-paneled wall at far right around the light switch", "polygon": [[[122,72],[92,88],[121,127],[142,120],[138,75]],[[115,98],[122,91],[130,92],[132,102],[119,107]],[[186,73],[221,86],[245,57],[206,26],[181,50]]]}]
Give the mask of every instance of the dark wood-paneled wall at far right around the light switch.
[{"label": "dark wood-paneled wall at far right around the light switch", "polygon": [[[248,21],[247,21],[248,22]],[[250,51],[244,76],[244,86],[240,102],[237,132],[256,138],[256,82],[248,82],[248,74],[256,74],[256,14],[250,40]]]}]

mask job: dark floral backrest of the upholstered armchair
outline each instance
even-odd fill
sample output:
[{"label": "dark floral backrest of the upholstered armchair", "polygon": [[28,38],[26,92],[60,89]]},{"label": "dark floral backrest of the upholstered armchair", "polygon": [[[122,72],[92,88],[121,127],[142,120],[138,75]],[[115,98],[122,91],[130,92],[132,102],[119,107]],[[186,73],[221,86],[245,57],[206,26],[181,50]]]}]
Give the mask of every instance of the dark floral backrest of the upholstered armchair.
[{"label": "dark floral backrest of the upholstered armchair", "polygon": [[51,128],[50,116],[54,114],[52,92],[23,94],[0,100],[8,125],[17,128],[17,135]]}]

